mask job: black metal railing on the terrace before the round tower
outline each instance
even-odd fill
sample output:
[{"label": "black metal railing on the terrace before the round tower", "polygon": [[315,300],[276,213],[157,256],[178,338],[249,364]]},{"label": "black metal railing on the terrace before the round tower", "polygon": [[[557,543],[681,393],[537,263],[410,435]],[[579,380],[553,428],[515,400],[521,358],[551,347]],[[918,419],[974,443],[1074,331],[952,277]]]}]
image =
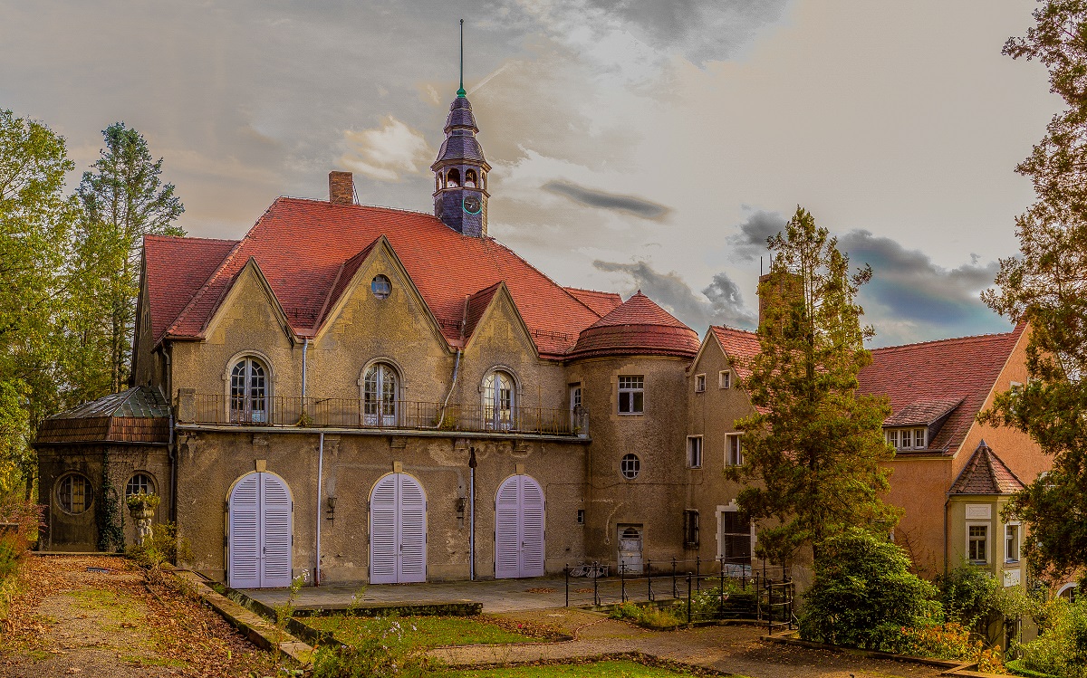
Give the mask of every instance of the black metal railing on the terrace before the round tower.
[{"label": "black metal railing on the terrace before the round tower", "polygon": [[727,558],[646,561],[638,572],[601,563],[565,570],[566,606],[603,606],[627,602],[671,607],[688,624],[749,619],[773,631],[794,628],[794,583],[783,567],[752,568]]}]

